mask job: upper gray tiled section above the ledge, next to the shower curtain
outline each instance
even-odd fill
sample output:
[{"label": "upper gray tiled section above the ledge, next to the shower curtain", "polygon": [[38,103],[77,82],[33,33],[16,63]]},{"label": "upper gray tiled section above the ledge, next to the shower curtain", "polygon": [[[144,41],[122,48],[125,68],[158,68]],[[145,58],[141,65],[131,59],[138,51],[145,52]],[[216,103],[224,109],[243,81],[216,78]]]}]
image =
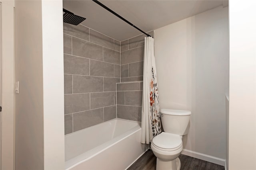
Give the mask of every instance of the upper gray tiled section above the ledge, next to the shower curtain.
[{"label": "upper gray tiled section above the ledge, next to the shower curtain", "polygon": [[[148,34],[154,37],[154,31]],[[121,42],[121,82],[143,80],[145,36],[142,34]]]}]

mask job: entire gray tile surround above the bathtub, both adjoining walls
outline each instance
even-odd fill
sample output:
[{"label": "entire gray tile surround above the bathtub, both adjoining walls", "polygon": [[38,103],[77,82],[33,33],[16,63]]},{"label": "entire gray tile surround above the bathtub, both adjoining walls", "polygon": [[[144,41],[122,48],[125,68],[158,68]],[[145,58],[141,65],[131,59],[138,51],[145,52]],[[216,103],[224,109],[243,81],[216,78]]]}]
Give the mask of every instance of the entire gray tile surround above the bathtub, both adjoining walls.
[{"label": "entire gray tile surround above the bathtub, both adjoining walls", "polygon": [[142,82],[130,81],[142,80],[144,35],[120,47],[120,41],[84,25],[63,28],[65,134],[116,117],[140,121]]}]

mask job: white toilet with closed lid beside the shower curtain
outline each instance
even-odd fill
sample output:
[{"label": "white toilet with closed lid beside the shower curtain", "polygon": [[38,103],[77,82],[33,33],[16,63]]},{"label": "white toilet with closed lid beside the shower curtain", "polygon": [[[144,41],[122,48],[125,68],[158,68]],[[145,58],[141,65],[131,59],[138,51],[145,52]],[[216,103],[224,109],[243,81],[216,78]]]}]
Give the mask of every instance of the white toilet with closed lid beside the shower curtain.
[{"label": "white toilet with closed lid beside the shower curtain", "polygon": [[161,109],[164,132],[153,138],[151,149],[156,156],[156,170],[180,170],[182,136],[188,134],[191,111]]}]

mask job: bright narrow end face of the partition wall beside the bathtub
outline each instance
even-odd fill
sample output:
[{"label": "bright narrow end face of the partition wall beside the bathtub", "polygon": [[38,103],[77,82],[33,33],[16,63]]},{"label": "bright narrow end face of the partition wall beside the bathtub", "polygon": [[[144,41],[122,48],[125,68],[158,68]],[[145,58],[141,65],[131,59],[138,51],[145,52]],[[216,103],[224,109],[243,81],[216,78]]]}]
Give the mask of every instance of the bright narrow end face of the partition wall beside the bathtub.
[{"label": "bright narrow end face of the partition wall beside the bathtub", "polygon": [[62,1],[42,1],[44,169],[64,169]]}]

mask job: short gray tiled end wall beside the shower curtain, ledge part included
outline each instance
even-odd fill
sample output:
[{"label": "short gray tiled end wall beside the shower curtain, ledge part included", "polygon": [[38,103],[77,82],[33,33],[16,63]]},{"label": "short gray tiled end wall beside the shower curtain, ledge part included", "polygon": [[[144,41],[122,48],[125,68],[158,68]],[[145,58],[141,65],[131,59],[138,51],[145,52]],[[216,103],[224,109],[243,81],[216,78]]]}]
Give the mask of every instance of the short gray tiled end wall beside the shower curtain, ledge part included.
[{"label": "short gray tiled end wall beside the shower curtain, ledge part included", "polygon": [[[154,36],[154,31],[149,32]],[[121,82],[116,86],[117,117],[141,120],[144,37],[121,42]]]}]

